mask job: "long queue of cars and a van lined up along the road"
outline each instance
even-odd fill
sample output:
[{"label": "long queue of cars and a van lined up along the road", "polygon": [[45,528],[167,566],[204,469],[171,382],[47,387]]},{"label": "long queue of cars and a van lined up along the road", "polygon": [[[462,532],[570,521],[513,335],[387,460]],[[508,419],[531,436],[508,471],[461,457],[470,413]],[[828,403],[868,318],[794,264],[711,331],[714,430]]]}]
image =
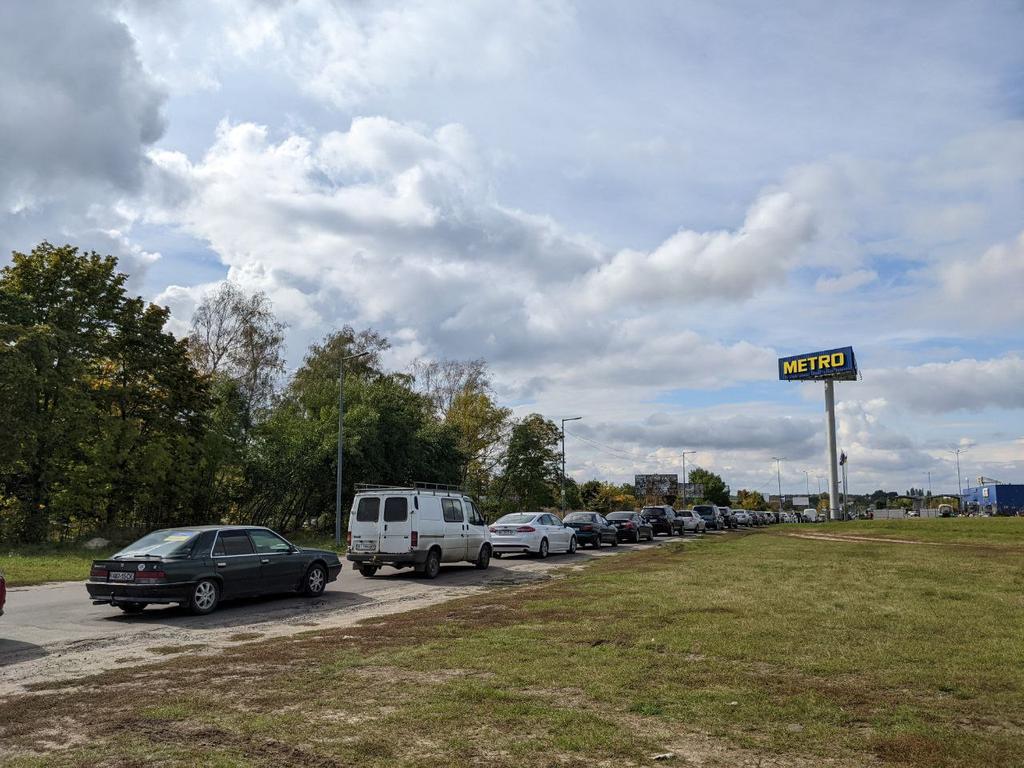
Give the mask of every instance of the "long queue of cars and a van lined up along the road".
[{"label": "long queue of cars and a van lined up along the road", "polygon": [[[473,500],[457,488],[357,486],[348,525],[346,559],[365,577],[387,565],[435,578],[441,563],[486,568],[507,555],[548,557],[580,547],[653,541],[706,530],[792,522],[790,513],[748,512],[697,504],[668,505],[602,515],[516,512],[487,523]],[[323,594],[341,572],[334,552],[297,547],[266,527],[203,525],[146,535],[104,560],[95,560],[86,583],[96,604],[137,613],[147,605],[177,603],[209,613],[224,598],[276,593]],[[0,580],[0,611],[3,583]]]}]

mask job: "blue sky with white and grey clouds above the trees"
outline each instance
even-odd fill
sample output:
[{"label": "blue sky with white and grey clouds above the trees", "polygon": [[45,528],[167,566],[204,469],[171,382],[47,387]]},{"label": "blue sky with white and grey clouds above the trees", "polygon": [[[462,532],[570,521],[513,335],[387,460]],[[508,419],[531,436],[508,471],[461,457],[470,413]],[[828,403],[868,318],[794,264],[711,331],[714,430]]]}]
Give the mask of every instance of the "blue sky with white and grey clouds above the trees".
[{"label": "blue sky with white and grey clouds above the trees", "polygon": [[[0,4],[0,265],[224,280],[298,366],[345,325],[484,357],[579,480],[1024,482],[1019,2]],[[820,478],[820,480],[819,480]],[[930,478],[930,479],[929,479]]]}]

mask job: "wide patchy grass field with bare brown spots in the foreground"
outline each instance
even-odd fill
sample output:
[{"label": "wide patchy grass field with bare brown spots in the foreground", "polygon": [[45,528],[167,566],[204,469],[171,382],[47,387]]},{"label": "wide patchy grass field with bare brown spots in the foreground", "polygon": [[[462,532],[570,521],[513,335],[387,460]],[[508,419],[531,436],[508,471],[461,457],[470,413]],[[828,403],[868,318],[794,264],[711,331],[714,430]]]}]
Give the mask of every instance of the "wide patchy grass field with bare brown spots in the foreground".
[{"label": "wide patchy grass field with bare brown spots in the foreground", "polygon": [[12,699],[0,762],[1020,766],[1022,563],[1014,519],[708,537]]}]

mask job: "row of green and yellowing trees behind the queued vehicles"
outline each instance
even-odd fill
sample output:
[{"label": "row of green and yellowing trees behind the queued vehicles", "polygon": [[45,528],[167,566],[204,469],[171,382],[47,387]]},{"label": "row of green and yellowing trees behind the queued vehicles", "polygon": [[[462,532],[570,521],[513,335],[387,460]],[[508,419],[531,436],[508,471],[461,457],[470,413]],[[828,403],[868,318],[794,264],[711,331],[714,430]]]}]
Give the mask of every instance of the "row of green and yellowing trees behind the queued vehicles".
[{"label": "row of green and yellowing trees behind the queued vehicles", "polygon": [[[0,270],[0,540],[71,541],[213,521],[333,524],[355,482],[464,486],[494,519],[559,503],[559,431],[499,406],[483,360],[387,371],[388,340],[343,327],[285,374],[267,298],[225,283],[187,338],[117,259],[42,243]],[[566,506],[631,508],[632,486],[566,481]]]}]

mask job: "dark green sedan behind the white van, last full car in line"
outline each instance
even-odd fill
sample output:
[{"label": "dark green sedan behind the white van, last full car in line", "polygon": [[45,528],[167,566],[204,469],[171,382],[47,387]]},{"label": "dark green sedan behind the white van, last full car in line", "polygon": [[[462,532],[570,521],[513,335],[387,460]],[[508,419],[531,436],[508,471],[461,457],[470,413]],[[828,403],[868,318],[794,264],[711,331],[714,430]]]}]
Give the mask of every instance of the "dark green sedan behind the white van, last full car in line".
[{"label": "dark green sedan behind the white van, last full car in line", "polygon": [[269,528],[199,525],[155,530],[109,560],[94,560],[85,586],[94,604],[126,613],[179,603],[203,614],[234,597],[316,597],[340,572],[336,553],[296,547]]}]

